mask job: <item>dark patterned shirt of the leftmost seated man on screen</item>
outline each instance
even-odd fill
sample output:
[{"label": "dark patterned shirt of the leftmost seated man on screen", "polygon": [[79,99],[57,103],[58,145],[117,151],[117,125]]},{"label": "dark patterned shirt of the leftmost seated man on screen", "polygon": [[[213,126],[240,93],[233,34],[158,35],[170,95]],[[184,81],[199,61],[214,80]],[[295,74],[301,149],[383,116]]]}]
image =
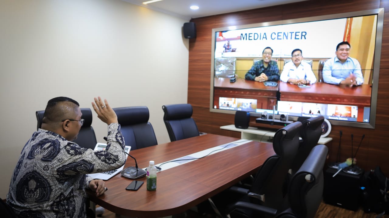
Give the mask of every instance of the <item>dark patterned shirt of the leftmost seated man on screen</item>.
[{"label": "dark patterned shirt of the leftmost seated man on screen", "polygon": [[254,80],[255,77],[258,77],[261,75],[261,73],[265,73],[268,77],[268,81],[275,81],[277,82],[280,79],[279,70],[277,62],[270,61],[268,66],[263,66],[263,60],[257,61],[252,65],[249,72],[246,73],[245,79],[247,80]]}]

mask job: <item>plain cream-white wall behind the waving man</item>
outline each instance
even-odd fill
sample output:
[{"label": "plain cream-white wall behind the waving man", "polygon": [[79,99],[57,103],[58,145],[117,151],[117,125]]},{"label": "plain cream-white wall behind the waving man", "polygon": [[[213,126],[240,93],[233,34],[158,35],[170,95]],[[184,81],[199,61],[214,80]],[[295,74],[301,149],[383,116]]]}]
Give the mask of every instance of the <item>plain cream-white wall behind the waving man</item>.
[{"label": "plain cream-white wall behind the waving man", "polygon": [[[35,111],[57,96],[81,107],[95,96],[147,106],[158,143],[170,141],[161,106],[187,102],[185,22],[120,0],[2,0],[0,197],[36,130]],[[103,142],[107,126],[95,113],[92,126]]]}]

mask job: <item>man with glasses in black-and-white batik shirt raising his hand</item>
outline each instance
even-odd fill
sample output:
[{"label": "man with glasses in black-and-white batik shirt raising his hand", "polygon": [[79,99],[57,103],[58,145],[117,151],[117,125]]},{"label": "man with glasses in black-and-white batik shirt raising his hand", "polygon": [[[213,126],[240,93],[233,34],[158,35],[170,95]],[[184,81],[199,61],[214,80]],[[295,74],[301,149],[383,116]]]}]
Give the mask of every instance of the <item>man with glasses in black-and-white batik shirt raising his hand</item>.
[{"label": "man with glasses in black-and-white batik shirt raising his hand", "polygon": [[106,188],[103,180],[87,176],[122,166],[124,140],[116,113],[107,100],[92,103],[98,118],[108,124],[107,148],[93,151],[72,142],[84,123],[79,103],[71,98],[49,100],[42,128],[24,146],[11,178],[7,204],[19,217],[86,217],[86,192],[96,196]]}]

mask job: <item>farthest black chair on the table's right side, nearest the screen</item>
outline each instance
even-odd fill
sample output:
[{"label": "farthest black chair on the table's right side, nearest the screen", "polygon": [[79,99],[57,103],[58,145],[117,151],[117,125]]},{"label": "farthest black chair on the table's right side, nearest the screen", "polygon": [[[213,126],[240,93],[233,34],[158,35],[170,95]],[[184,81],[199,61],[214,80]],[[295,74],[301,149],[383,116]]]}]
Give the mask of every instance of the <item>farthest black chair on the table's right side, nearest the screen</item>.
[{"label": "farthest black chair on the table's right side, nearest the screen", "polygon": [[321,125],[324,122],[324,117],[312,117],[310,119],[304,120],[302,122],[303,126],[301,127],[300,136],[302,141],[300,141],[300,146],[296,157],[294,158],[292,164],[291,174],[293,175],[300,169],[301,165],[307,159],[308,154],[314,146],[317,145],[317,142],[320,139],[322,130]]}]

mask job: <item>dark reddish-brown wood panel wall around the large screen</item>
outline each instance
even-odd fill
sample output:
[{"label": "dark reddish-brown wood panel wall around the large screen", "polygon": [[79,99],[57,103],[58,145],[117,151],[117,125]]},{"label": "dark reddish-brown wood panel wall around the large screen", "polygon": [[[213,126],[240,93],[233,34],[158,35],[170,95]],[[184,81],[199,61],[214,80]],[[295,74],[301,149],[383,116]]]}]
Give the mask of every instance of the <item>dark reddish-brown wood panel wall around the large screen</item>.
[{"label": "dark reddish-brown wood panel wall around the large screen", "polygon": [[[200,131],[240,138],[240,133],[221,130],[219,127],[234,123],[234,115],[209,111],[211,78],[212,28],[296,19],[353,12],[359,10],[385,8],[384,31],[378,84],[377,117],[375,129],[348,126],[332,126],[329,137],[329,160],[336,160],[339,131],[342,130],[340,160],[351,156],[351,134],[355,147],[363,134],[365,138],[357,154],[357,164],[365,170],[380,166],[389,177],[389,0],[309,0],[305,2],[273,7],[245,10],[229,14],[192,19],[196,23],[197,37],[189,40],[188,103],[193,106],[193,118]],[[331,30],[324,30],[331,31]],[[262,49],[262,48],[259,48]]]}]

